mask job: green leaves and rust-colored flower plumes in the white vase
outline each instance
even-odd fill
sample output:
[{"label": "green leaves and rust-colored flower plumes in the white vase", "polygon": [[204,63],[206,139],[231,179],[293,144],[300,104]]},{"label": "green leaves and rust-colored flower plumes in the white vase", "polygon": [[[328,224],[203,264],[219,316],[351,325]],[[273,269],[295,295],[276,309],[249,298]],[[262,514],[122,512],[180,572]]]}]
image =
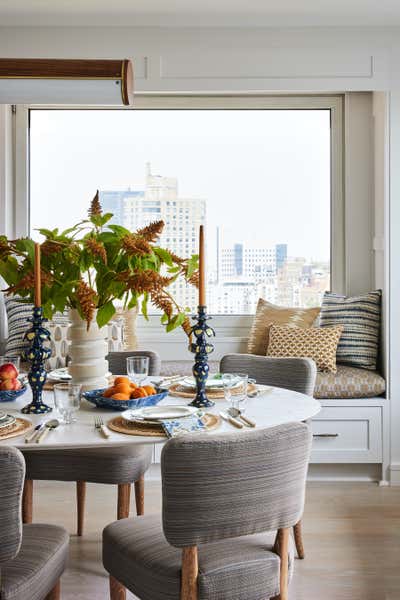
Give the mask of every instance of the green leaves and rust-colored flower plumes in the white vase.
[{"label": "green leaves and rust-colored flower plumes in the white vase", "polygon": [[[198,285],[198,256],[181,258],[157,245],[164,222],[156,221],[131,232],[111,224],[103,214],[98,192],[88,218],[65,231],[39,229],[41,244],[42,307],[46,318],[66,308],[76,309],[90,327],[96,314],[99,327],[116,312],[116,303],[140,306],[147,318],[151,302],[162,311],[167,331],[182,326],[190,333],[187,308],[180,307],[168,287],[183,277]],[[0,275],[7,294],[32,302],[34,297],[34,241],[0,236]],[[97,312],[96,312],[97,311]]]}]

